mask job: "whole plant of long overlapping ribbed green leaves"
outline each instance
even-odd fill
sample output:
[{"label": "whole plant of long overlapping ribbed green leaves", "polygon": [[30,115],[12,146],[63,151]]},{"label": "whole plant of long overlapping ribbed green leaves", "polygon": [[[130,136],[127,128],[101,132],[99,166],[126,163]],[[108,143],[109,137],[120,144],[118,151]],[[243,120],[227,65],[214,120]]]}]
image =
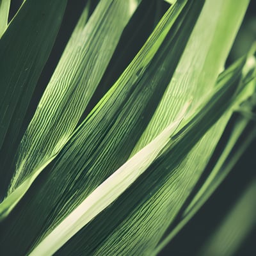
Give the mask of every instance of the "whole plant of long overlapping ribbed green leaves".
[{"label": "whole plant of long overlapping ribbed green leaves", "polygon": [[67,1],[0,2],[5,255],[161,253],[255,139],[255,45],[225,68],[249,2],[85,1],[29,124]]}]

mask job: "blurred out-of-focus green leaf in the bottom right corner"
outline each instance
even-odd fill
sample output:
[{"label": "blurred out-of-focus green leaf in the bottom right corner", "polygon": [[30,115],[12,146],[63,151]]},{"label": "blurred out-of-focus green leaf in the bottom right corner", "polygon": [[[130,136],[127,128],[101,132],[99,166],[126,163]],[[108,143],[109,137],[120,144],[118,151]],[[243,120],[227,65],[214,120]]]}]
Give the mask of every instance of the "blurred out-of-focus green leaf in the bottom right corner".
[{"label": "blurred out-of-focus green leaf in the bottom right corner", "polygon": [[236,205],[216,228],[214,234],[202,246],[199,256],[235,255],[241,243],[253,231],[256,224],[256,180],[250,182]]}]

